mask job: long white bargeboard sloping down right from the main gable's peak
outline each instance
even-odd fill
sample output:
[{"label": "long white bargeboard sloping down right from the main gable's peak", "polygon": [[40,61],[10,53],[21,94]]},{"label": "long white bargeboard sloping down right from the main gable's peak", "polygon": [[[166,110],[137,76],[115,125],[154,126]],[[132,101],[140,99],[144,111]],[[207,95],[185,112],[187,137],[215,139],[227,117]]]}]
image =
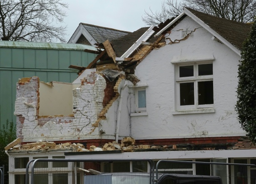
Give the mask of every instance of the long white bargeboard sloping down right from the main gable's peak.
[{"label": "long white bargeboard sloping down right from the main gable's peak", "polygon": [[184,7],[184,13],[189,16],[191,19],[193,19],[195,22],[197,22],[198,24],[200,24],[204,29],[206,29],[207,31],[209,31],[212,35],[214,35],[217,39],[219,39],[223,44],[225,44],[226,46],[228,46],[232,51],[234,51],[235,53],[237,53],[239,56],[241,56],[240,50],[238,48],[236,48],[233,44],[231,44],[229,41],[227,41],[226,39],[224,39],[221,35],[219,35],[219,33],[217,33],[216,31],[214,31],[213,29],[211,29],[211,27],[209,27],[207,24],[205,24],[201,19],[199,19],[198,17],[196,17],[196,15],[194,15],[193,13],[191,13],[189,10],[187,10]]}]

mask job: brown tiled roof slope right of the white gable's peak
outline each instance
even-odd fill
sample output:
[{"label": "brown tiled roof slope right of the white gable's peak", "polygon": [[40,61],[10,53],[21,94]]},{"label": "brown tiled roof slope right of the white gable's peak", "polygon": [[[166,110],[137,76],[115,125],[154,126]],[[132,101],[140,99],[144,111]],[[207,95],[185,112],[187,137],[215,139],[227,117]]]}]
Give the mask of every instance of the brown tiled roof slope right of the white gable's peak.
[{"label": "brown tiled roof slope right of the white gable's peak", "polygon": [[251,31],[251,24],[215,17],[188,7],[186,7],[186,9],[196,15],[196,17],[201,19],[205,24],[211,27],[211,29],[236,46],[239,50],[241,50],[244,40],[249,36]]}]

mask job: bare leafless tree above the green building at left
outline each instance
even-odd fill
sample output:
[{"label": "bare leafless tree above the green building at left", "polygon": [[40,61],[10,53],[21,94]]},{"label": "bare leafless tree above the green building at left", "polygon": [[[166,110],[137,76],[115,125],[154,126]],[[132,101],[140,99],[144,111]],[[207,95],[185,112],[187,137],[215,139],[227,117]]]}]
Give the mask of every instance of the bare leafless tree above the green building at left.
[{"label": "bare leafless tree above the green building at left", "polygon": [[62,0],[0,0],[0,37],[4,41],[65,42],[61,25],[68,5]]}]

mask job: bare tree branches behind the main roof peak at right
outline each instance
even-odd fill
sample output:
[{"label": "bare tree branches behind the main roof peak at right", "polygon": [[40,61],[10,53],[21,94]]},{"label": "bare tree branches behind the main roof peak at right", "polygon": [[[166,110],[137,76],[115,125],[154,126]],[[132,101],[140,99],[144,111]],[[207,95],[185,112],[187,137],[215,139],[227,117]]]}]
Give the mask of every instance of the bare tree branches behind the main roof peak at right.
[{"label": "bare tree branches behind the main roof peak at right", "polygon": [[145,10],[142,21],[147,25],[158,25],[179,15],[183,7],[238,22],[252,22],[256,16],[256,0],[164,0],[161,10]]}]

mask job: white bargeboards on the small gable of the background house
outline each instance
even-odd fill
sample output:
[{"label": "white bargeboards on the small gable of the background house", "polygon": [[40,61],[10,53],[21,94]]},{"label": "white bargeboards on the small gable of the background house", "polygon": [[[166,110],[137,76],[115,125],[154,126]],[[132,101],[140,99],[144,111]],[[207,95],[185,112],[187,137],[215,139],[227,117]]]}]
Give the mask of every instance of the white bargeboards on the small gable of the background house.
[{"label": "white bargeboards on the small gable of the background house", "polygon": [[85,36],[85,38],[89,41],[89,43],[94,46],[94,44],[97,44],[97,41],[92,37],[91,34],[85,29],[83,24],[79,24],[77,29],[75,30],[75,33],[71,36],[70,40],[67,42],[69,44],[75,44],[77,40],[80,38],[81,34]]}]

